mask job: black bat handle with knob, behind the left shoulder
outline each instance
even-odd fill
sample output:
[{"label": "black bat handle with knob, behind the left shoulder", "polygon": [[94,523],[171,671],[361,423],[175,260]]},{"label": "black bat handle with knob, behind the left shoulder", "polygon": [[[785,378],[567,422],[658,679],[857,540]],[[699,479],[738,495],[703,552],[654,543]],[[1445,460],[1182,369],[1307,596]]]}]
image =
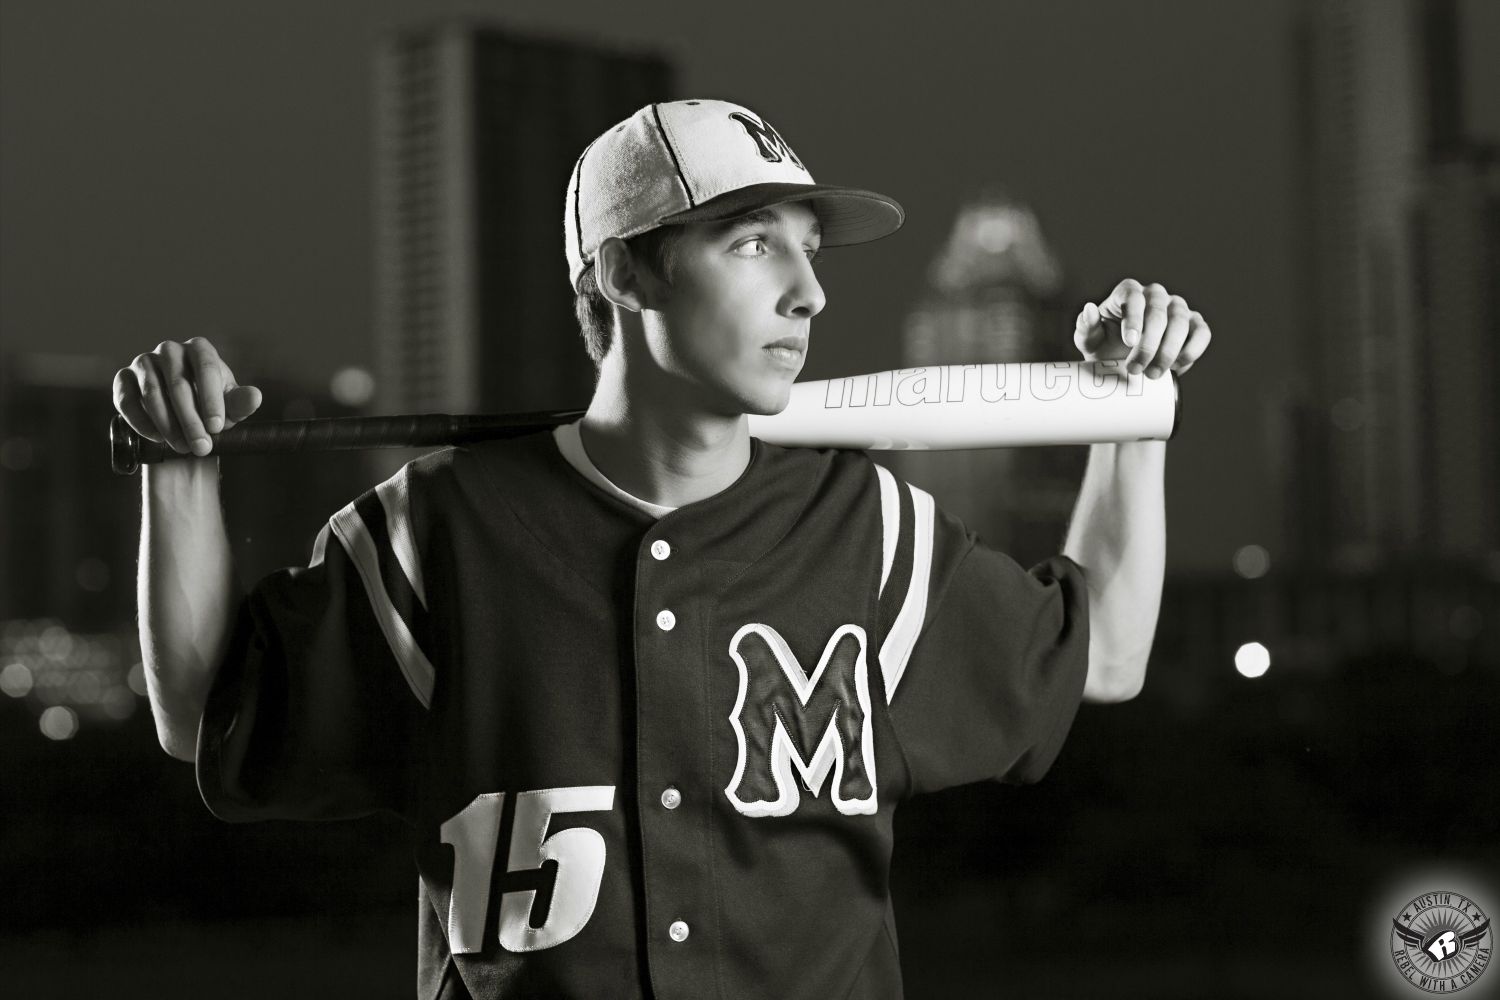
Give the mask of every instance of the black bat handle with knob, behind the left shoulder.
[{"label": "black bat handle with knob, behind the left shoulder", "polygon": [[[430,448],[472,441],[514,438],[556,427],[584,415],[580,409],[530,414],[398,417],[324,417],[321,420],[252,421],[213,435],[212,454],[278,451],[338,451],[358,448]],[[110,468],[134,475],[142,465],[188,457],[138,435],[124,417],[110,421]]]}]

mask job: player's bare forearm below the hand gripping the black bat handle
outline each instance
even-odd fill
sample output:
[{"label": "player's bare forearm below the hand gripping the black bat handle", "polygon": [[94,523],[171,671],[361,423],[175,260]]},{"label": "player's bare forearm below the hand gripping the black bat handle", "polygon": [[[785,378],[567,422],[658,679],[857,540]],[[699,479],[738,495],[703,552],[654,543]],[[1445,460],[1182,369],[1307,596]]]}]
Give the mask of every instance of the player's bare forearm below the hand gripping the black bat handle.
[{"label": "player's bare forearm below the hand gripping the black bat handle", "polygon": [[219,505],[219,462],[148,465],[142,478],[141,657],[156,736],[166,753],[192,760],[238,600]]}]

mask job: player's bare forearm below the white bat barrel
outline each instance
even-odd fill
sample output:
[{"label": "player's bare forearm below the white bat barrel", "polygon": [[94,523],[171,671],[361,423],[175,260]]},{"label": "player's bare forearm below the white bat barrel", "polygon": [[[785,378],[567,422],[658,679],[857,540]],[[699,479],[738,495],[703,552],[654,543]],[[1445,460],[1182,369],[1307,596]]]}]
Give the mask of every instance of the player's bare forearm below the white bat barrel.
[{"label": "player's bare forearm below the white bat barrel", "polygon": [[1162,441],[1089,450],[1064,555],[1089,588],[1090,702],[1131,699],[1146,679],[1167,561],[1166,465]]}]

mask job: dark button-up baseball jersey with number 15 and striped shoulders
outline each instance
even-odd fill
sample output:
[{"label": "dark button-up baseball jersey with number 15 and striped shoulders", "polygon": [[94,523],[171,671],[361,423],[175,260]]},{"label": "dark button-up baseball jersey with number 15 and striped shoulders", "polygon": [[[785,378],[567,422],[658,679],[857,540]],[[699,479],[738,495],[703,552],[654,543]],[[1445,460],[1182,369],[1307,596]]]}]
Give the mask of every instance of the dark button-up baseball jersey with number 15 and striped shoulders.
[{"label": "dark button-up baseball jersey with number 15 and striped shoulders", "polygon": [[550,433],[410,463],[244,600],[206,802],[400,816],[423,999],[900,997],[894,807],[1048,768],[1082,570],[858,451],[654,513]]}]

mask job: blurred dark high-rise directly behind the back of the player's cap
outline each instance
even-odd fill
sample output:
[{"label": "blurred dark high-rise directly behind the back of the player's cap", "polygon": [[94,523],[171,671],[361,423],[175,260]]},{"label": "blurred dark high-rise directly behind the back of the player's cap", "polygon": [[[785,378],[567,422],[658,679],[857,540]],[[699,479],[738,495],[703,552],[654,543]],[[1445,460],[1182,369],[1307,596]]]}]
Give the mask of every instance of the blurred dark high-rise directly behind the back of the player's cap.
[{"label": "blurred dark high-rise directly behind the back of the player's cap", "polygon": [[376,382],[386,412],[584,406],[562,256],[582,148],[669,99],[660,57],[470,21],[376,55]]}]

